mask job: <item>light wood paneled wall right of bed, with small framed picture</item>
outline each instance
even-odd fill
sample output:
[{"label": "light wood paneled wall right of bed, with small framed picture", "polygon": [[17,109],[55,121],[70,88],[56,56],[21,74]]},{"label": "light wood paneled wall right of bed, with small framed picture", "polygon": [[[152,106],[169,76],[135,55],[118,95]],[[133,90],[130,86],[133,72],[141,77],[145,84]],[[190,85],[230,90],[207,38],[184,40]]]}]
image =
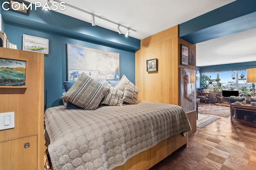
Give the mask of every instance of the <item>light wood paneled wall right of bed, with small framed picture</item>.
[{"label": "light wood paneled wall right of bed, with small framed picture", "polygon": [[[135,53],[135,84],[140,89],[138,99],[150,102],[180,105],[180,68],[196,70],[196,65],[180,64],[180,45],[194,50],[192,45],[178,37],[178,25],[141,40],[141,49]],[[158,59],[158,71],[147,72],[146,60]],[[196,131],[196,111],[187,113]]]}]

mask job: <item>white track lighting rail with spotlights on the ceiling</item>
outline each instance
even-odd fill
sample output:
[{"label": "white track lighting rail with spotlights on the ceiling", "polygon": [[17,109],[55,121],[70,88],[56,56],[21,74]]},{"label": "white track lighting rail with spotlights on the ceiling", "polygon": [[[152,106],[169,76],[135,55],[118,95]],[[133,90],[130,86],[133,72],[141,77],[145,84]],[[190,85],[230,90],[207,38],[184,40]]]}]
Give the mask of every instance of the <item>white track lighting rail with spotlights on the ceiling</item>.
[{"label": "white track lighting rail with spotlights on the ceiling", "polygon": [[[60,1],[60,0],[51,0],[51,1],[55,1],[55,2],[58,2],[58,3],[61,3],[61,2],[62,2],[62,1]],[[49,6],[52,5],[51,2],[50,2],[50,0],[47,0],[47,3],[48,3]],[[120,26],[126,28],[126,29],[127,29],[126,37],[128,37],[128,35],[129,35],[129,33],[130,33],[129,30],[132,30],[132,31],[136,32],[136,30],[134,30],[134,29],[128,28],[128,27],[126,27],[126,26],[124,26],[124,25],[121,25],[121,24],[116,23],[116,22],[114,22],[114,21],[108,20],[108,19],[105,18],[105,17],[98,16],[98,15],[96,15],[96,14],[92,14],[91,12],[82,10],[82,9],[80,9],[80,8],[77,8],[77,7],[72,6],[72,5],[70,5],[70,4],[67,4],[67,3],[65,3],[64,5],[69,6],[69,7],[71,7],[71,8],[74,8],[74,9],[76,9],[76,10],[79,10],[79,11],[82,11],[82,12],[84,12],[84,13],[86,13],[86,14],[91,15],[91,16],[92,16],[92,26],[95,26],[95,17],[97,17],[97,18],[100,18],[100,19],[103,19],[103,20],[105,20],[105,21],[108,21],[108,22],[111,22],[111,23],[114,23],[114,24],[118,25],[117,31],[118,31],[119,34],[122,33],[121,30],[120,30],[120,28],[119,28]]]}]

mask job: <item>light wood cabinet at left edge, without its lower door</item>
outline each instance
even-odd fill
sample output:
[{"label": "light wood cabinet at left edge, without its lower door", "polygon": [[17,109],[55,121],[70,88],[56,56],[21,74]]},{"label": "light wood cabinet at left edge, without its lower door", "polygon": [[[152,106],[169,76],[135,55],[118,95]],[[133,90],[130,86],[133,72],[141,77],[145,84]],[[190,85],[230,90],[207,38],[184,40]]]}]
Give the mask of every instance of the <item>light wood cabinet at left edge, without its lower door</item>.
[{"label": "light wood cabinet at left edge, without its lower door", "polygon": [[26,59],[28,69],[27,88],[0,88],[0,113],[14,111],[15,119],[14,128],[0,131],[0,143],[36,136],[37,165],[38,170],[42,169],[45,143],[44,54],[0,47],[0,58]]}]

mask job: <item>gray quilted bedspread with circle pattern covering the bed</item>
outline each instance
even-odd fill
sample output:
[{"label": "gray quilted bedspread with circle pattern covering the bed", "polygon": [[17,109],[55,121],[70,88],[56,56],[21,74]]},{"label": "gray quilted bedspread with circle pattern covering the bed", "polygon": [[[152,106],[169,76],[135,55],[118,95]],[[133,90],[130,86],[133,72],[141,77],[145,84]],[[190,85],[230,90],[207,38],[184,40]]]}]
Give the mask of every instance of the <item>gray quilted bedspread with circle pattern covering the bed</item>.
[{"label": "gray quilted bedspread with circle pattern covering the bed", "polygon": [[191,129],[180,106],[146,101],[93,111],[56,106],[44,117],[54,170],[111,170]]}]

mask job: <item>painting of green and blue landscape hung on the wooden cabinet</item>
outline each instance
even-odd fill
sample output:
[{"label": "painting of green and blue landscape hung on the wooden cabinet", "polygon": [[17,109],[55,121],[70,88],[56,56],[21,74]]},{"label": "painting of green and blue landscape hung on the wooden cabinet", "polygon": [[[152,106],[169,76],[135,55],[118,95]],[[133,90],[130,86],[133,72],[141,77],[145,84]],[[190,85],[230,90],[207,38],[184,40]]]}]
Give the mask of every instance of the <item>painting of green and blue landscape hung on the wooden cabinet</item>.
[{"label": "painting of green and blue landscape hung on the wooden cabinet", "polygon": [[27,60],[0,58],[0,88],[25,88]]}]

